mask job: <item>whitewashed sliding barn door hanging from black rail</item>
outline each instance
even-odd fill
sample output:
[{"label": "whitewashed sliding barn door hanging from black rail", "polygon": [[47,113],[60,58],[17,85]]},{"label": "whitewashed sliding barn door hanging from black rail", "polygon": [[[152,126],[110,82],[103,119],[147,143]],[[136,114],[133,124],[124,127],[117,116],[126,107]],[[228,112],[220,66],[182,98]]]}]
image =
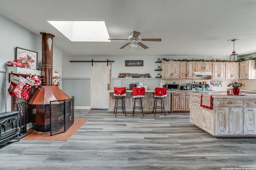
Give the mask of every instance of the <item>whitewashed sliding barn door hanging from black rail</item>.
[{"label": "whitewashed sliding barn door hanging from black rail", "polygon": [[93,63],[91,66],[91,109],[108,109],[111,82],[111,63]]}]

